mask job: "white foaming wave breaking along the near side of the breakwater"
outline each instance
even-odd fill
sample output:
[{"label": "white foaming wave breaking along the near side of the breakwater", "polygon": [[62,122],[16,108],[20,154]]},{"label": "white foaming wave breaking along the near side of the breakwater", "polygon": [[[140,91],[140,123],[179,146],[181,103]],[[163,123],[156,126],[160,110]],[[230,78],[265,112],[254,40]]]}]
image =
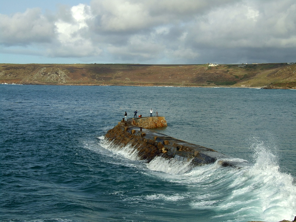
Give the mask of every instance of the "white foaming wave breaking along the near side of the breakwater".
[{"label": "white foaming wave breaking along the near side of the breakwater", "polygon": [[[102,146],[130,160],[139,160],[136,149],[130,145],[118,147],[105,141]],[[190,161],[155,157],[143,165],[146,166],[143,170],[150,176],[186,186],[188,193],[139,198],[142,201],[186,199],[193,209],[214,210],[216,215],[212,219],[219,221],[292,220],[296,215],[296,187],[292,176],[279,171],[277,157],[264,143],[256,142],[251,148],[254,164],[239,169],[221,167],[218,161],[193,168]],[[237,158],[230,161],[247,162]]]}]

